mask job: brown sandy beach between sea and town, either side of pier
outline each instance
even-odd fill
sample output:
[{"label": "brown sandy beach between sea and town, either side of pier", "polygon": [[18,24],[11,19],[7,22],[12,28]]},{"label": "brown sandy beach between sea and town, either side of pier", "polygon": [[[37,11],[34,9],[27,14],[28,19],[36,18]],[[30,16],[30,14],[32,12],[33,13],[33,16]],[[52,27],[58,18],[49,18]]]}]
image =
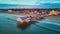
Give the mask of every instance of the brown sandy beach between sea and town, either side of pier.
[{"label": "brown sandy beach between sea and town, either side of pier", "polygon": [[[36,16],[34,14],[24,14],[24,13],[6,13],[6,14],[13,14],[18,16]],[[54,19],[54,20],[60,20],[60,16],[46,16],[45,19]]]}]

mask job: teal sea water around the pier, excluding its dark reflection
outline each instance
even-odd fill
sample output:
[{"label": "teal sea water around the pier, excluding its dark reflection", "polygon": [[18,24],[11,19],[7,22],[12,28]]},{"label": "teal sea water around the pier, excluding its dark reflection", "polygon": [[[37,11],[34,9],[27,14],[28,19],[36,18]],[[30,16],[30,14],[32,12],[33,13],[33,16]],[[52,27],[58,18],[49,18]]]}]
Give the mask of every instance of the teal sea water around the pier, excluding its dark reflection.
[{"label": "teal sea water around the pier, excluding its dark reflection", "polygon": [[[25,17],[0,13],[0,34],[20,34],[16,18]],[[10,19],[8,19],[10,18]],[[31,24],[22,34],[60,34],[60,20],[43,19]]]}]

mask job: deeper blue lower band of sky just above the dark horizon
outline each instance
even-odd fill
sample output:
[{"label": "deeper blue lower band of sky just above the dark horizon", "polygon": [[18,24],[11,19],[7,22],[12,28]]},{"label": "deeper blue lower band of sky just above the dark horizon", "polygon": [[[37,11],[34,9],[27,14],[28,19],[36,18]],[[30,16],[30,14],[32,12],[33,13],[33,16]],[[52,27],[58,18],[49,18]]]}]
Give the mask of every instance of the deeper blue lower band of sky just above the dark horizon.
[{"label": "deeper blue lower band of sky just above the dark horizon", "polygon": [[40,5],[0,4],[0,9],[51,9],[60,8],[60,3],[43,3]]}]

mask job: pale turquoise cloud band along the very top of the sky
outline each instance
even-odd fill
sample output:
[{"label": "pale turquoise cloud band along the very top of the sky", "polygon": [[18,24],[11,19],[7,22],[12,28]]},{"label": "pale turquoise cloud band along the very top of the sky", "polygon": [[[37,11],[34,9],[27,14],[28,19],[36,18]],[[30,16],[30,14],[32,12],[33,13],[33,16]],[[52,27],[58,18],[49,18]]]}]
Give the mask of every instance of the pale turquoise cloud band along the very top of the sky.
[{"label": "pale turquoise cloud band along the very top of the sky", "polygon": [[0,0],[0,4],[40,5],[44,3],[60,3],[60,0]]}]

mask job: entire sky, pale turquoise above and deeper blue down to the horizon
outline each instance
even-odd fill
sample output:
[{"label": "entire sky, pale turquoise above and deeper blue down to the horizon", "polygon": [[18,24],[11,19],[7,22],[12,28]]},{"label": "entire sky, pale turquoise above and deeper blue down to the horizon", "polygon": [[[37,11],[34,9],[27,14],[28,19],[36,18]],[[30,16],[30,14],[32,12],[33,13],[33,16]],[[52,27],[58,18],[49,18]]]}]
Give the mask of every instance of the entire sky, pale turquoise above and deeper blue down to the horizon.
[{"label": "entire sky, pale turquoise above and deeper blue down to the horizon", "polygon": [[60,0],[0,0],[0,9],[60,8]]}]

